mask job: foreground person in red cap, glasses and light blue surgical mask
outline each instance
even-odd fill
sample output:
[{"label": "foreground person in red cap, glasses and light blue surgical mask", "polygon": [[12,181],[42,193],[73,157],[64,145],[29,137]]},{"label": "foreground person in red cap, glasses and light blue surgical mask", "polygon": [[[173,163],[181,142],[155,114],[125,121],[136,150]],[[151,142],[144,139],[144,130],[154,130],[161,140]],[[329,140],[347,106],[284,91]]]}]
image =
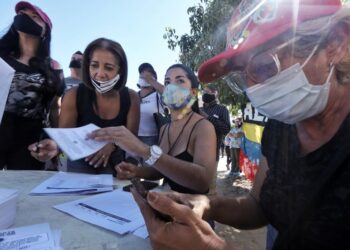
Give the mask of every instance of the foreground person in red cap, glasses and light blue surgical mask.
[{"label": "foreground person in red cap, glasses and light blue surgical mask", "polygon": [[[242,1],[227,50],[199,68],[245,91],[270,119],[249,194],[134,194],[155,249],[235,249],[202,218],[272,224],[274,249],[349,249],[350,9],[338,0]],[[164,223],[150,206],[176,218]]]}]

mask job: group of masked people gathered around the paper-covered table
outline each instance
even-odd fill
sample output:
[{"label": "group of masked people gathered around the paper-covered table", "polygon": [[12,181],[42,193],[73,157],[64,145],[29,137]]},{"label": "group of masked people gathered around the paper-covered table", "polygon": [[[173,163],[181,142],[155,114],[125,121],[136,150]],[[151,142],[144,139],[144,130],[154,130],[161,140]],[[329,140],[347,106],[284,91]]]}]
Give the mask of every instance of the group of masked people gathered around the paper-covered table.
[{"label": "group of masked people gathered around the paper-covered table", "polygon": [[[269,118],[253,188],[233,198],[214,195],[216,168],[226,135],[228,169],[240,175],[242,120],[231,128],[218,89],[204,87],[200,108],[199,80],[189,67],[169,66],[162,84],[143,63],[137,93],[126,86],[122,46],[106,38],[72,56],[70,68],[80,73],[72,70],[65,87],[50,56],[50,18],[28,2],[15,12],[0,38],[0,57],[16,71],[0,125],[0,168],[43,169],[60,154],[55,141],[42,138],[43,128],[94,123],[100,129],[89,139],[108,144],[68,161],[67,170],[164,178],[172,192],[149,192],[145,200],[132,190],[154,249],[236,249],[212,221],[238,229],[270,224],[274,249],[350,248],[350,8],[340,0],[242,0],[227,49],[200,65],[201,82],[224,77]],[[164,110],[169,120],[159,127],[154,114]]]}]

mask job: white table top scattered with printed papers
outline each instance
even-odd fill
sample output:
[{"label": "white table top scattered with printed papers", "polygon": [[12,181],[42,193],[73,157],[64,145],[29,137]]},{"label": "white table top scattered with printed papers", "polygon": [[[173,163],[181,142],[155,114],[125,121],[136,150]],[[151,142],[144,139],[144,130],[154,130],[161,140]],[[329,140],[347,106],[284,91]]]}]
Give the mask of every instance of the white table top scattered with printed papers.
[{"label": "white table top scattered with printed papers", "polygon": [[[149,239],[144,240],[132,234],[121,236],[78,220],[53,208],[54,205],[81,199],[86,196],[28,195],[35,186],[55,173],[49,171],[0,170],[0,188],[12,188],[19,191],[16,220],[12,227],[47,222],[51,228],[62,231],[61,243],[64,249],[152,249]],[[121,183],[117,181],[118,184]]]}]

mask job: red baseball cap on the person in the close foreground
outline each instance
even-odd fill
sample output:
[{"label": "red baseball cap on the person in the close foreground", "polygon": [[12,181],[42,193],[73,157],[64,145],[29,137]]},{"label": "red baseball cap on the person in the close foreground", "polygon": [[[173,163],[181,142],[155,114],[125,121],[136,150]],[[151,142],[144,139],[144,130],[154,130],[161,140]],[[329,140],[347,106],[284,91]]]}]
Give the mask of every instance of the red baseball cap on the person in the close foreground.
[{"label": "red baseball cap on the person in the close foreground", "polygon": [[226,75],[232,70],[230,59],[341,6],[341,0],[243,0],[229,22],[226,50],[200,65],[198,78],[208,83]]}]

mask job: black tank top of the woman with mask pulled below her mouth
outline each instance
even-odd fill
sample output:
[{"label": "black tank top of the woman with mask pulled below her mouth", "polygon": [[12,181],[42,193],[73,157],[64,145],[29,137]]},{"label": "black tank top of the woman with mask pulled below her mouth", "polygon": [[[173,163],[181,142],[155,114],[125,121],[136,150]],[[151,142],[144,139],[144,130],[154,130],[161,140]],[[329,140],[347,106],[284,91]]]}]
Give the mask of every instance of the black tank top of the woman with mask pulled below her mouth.
[{"label": "black tank top of the woman with mask pulled below her mouth", "polygon": [[123,87],[119,91],[120,97],[120,109],[119,114],[113,119],[106,120],[100,118],[94,110],[94,104],[96,103],[95,91],[87,88],[84,84],[79,84],[77,91],[77,110],[78,119],[77,127],[93,123],[101,128],[111,126],[126,126],[127,115],[130,108],[130,96],[127,87]]}]

